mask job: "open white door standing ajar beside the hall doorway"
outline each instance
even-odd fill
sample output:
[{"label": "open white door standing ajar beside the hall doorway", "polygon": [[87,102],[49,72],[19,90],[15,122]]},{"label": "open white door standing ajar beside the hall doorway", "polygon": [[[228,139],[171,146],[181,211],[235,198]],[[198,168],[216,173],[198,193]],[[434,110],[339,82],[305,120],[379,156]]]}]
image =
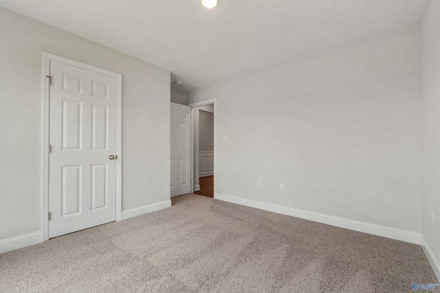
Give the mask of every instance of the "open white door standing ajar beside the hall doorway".
[{"label": "open white door standing ajar beside the hall doorway", "polygon": [[191,108],[171,103],[171,196],[191,192],[190,185],[190,125]]}]

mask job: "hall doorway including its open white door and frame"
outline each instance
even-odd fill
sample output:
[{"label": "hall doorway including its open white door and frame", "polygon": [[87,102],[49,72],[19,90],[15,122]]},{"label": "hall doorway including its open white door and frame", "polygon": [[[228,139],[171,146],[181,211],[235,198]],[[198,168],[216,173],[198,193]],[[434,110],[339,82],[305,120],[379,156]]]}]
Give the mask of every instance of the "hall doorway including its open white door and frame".
[{"label": "hall doorway including its open white door and frame", "polygon": [[212,99],[188,106],[171,102],[170,198],[172,200],[189,193],[215,197],[215,102],[215,99]]}]

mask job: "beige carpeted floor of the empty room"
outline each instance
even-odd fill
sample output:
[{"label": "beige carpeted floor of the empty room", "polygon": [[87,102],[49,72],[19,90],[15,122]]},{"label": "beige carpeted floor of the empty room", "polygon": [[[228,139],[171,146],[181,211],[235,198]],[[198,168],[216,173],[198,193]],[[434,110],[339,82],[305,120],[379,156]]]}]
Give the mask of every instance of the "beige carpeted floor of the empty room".
[{"label": "beige carpeted floor of the empty room", "polygon": [[412,292],[414,282],[437,283],[420,246],[194,194],[0,255],[0,292]]}]

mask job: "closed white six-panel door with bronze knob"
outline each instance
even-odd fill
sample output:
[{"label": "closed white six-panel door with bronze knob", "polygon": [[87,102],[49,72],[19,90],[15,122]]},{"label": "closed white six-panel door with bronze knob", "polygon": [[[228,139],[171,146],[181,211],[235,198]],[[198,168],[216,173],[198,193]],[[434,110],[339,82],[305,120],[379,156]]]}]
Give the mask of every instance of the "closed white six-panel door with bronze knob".
[{"label": "closed white six-panel door with bronze knob", "polygon": [[114,77],[50,61],[49,237],[116,219]]}]

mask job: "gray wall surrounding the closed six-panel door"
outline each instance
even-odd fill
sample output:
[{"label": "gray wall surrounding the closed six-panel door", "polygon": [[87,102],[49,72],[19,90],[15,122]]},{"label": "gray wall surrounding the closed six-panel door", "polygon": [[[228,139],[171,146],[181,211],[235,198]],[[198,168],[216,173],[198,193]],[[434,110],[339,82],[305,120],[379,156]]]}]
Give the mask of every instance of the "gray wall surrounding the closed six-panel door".
[{"label": "gray wall surrounding the closed six-panel door", "polygon": [[0,240],[40,231],[42,54],[122,73],[122,207],[170,198],[170,71],[0,8]]}]

